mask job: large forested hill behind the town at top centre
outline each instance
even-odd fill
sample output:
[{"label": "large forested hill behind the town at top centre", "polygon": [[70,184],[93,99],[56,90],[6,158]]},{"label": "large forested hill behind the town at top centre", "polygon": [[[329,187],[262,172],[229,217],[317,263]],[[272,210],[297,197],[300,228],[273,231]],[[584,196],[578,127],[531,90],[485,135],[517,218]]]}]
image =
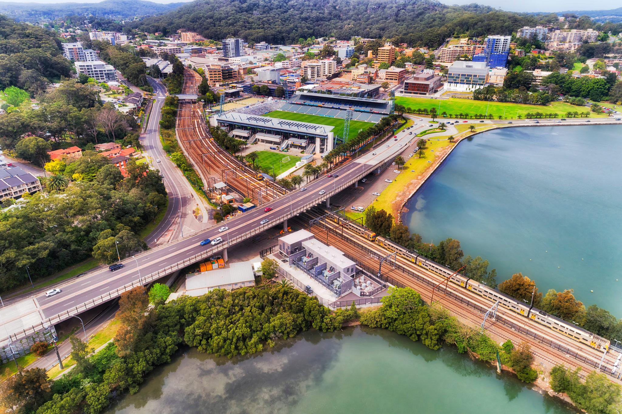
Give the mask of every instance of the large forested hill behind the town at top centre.
[{"label": "large forested hill behind the town at top centre", "polygon": [[400,36],[402,42],[430,47],[455,33],[509,35],[525,25],[555,21],[556,14],[533,16],[432,0],[197,0],[132,27],[150,33],[186,29],[208,39],[234,36],[277,44],[328,34],[338,39]]}]

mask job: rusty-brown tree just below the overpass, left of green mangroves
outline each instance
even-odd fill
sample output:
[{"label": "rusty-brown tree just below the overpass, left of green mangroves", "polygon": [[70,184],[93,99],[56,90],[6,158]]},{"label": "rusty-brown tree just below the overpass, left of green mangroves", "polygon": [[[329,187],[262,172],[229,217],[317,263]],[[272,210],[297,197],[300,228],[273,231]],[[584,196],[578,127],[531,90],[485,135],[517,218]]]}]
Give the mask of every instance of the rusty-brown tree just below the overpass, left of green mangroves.
[{"label": "rusty-brown tree just below the overpass, left of green mangroves", "polygon": [[154,313],[147,312],[149,297],[144,287],[135,287],[121,294],[116,318],[121,327],[114,336],[119,356],[140,351],[144,334],[154,323]]}]

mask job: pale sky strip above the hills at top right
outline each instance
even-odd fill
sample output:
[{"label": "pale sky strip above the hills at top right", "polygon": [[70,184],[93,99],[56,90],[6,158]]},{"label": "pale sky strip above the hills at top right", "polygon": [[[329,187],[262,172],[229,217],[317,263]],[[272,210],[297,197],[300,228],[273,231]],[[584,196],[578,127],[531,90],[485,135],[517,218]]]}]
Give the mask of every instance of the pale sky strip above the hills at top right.
[{"label": "pale sky strip above the hills at top right", "polygon": [[476,2],[485,6],[501,7],[505,11],[516,12],[560,12],[567,10],[609,10],[620,7],[615,2],[585,2],[585,0],[440,0],[445,4],[470,4]]}]

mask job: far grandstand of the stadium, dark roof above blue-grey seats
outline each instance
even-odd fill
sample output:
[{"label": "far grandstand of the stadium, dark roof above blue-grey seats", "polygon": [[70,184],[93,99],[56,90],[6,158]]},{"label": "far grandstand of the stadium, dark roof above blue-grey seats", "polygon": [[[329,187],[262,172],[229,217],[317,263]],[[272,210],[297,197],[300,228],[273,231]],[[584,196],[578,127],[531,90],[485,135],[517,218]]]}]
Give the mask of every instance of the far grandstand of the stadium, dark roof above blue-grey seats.
[{"label": "far grandstand of the stadium, dark roof above blue-grey seats", "polygon": [[346,110],[353,109],[356,121],[378,122],[391,113],[391,104],[382,99],[356,98],[336,94],[298,92],[281,107],[281,111],[300,114],[346,117]]}]

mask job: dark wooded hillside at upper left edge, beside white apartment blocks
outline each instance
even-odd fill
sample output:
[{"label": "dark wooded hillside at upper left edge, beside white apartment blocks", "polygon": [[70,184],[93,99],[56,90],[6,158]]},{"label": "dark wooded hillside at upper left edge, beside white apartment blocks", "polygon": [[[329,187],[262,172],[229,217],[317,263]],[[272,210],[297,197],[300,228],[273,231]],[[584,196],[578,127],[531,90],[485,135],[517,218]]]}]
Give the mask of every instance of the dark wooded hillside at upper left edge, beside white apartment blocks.
[{"label": "dark wooded hillside at upper left edge, beside white apartment blocks", "polygon": [[70,62],[59,47],[55,32],[0,15],[0,89],[16,85],[34,95],[46,80],[69,76]]}]

